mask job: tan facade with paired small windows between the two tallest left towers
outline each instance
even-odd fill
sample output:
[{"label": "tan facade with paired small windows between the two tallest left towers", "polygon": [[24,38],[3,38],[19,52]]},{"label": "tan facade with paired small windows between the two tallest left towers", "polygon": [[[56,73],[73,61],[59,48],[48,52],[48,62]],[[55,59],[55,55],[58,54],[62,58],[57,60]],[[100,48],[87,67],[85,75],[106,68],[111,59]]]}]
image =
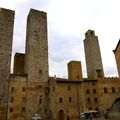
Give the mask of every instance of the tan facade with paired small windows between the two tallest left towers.
[{"label": "tan facade with paired small windows between the two tallest left towers", "polygon": [[11,74],[9,86],[7,120],[25,120],[27,75]]}]

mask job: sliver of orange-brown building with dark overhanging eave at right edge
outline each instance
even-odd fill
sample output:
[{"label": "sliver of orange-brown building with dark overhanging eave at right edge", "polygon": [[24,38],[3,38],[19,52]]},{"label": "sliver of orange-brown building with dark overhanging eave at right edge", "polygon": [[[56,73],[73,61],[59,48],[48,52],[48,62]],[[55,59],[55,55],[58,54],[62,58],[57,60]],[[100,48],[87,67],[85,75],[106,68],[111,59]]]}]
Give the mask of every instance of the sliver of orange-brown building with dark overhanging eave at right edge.
[{"label": "sliver of orange-brown building with dark overhanging eave at right edge", "polygon": [[118,74],[120,77],[120,40],[115,48],[115,50],[113,50],[114,55],[115,55],[115,59],[116,59],[116,63],[117,63],[117,70],[118,70]]}]

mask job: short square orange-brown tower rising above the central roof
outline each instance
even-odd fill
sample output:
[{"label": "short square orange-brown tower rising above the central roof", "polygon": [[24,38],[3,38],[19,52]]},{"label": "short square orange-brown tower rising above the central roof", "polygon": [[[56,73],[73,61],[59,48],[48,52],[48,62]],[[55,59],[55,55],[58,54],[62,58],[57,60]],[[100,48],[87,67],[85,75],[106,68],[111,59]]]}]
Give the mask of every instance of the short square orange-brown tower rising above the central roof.
[{"label": "short square orange-brown tower rising above the central roof", "polygon": [[70,61],[68,63],[68,78],[70,80],[83,80],[80,61]]}]

